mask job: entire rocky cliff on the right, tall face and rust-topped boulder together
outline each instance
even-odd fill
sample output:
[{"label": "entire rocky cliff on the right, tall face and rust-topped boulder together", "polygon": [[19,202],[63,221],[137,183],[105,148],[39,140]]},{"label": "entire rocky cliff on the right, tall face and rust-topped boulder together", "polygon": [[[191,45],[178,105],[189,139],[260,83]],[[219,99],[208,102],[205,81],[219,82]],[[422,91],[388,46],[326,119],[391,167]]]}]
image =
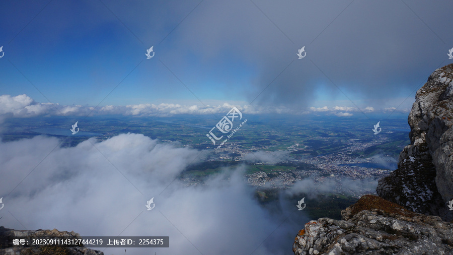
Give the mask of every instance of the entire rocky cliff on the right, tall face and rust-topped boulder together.
[{"label": "entire rocky cliff on the right, tall face and rust-topped boulder together", "polygon": [[379,180],[380,197],[305,224],[294,254],[453,254],[453,64],[417,91],[408,122],[411,144]]}]

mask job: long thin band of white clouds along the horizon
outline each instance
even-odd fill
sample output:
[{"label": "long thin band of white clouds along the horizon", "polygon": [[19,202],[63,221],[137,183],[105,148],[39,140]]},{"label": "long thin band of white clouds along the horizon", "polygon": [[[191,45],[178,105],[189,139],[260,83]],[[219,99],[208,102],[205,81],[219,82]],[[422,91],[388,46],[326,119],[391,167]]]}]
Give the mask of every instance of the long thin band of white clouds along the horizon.
[{"label": "long thin band of white clouds along the horizon", "polygon": [[[126,106],[106,105],[100,107],[82,105],[60,105],[52,103],[39,103],[29,96],[23,94],[18,96],[0,96],[0,115],[10,114],[12,117],[35,117],[35,116],[86,116],[90,115],[123,115],[123,116],[172,116],[178,114],[214,114],[222,116],[233,106],[238,107],[243,113],[248,114],[328,114],[340,117],[349,117],[355,113],[387,113],[397,110],[396,108],[385,108],[375,110],[373,107],[359,109],[356,107],[334,106],[334,107],[310,107],[305,110],[294,110],[284,106],[256,106],[256,105],[181,105],[171,103],[161,104],[136,104]],[[399,109],[397,112],[409,112],[409,109]]]}]

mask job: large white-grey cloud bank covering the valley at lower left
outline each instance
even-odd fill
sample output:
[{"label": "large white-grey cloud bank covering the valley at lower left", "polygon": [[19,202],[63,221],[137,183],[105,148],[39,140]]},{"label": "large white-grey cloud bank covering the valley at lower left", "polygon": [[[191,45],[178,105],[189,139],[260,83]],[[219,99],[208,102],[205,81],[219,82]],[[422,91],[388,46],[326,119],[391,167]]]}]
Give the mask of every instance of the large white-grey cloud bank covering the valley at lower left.
[{"label": "large white-grey cloud bank covering the valley at lower left", "polygon": [[[0,142],[2,226],[85,236],[170,236],[170,248],[128,248],[128,254],[250,254],[255,249],[255,254],[287,254],[303,227],[291,221],[280,225],[283,215],[260,207],[240,169],[229,178],[219,175],[206,185],[184,187],[177,177],[202,160],[200,151],[138,134],[102,142],[91,138],[70,148],[60,143],[46,136]],[[156,207],[147,211],[146,201],[153,197]],[[263,243],[277,228],[279,236],[270,239],[284,236],[285,243]]]}]

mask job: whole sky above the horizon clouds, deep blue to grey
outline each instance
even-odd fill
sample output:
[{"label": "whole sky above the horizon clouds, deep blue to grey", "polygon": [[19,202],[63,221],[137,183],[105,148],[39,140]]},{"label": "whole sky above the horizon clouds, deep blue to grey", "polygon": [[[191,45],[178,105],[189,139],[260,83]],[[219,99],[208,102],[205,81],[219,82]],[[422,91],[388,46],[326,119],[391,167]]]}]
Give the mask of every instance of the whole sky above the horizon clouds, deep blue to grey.
[{"label": "whole sky above the horizon clouds, deep blue to grey", "polygon": [[413,92],[452,62],[451,10],[448,1],[8,2],[0,95],[87,107],[406,100],[410,109]]}]

